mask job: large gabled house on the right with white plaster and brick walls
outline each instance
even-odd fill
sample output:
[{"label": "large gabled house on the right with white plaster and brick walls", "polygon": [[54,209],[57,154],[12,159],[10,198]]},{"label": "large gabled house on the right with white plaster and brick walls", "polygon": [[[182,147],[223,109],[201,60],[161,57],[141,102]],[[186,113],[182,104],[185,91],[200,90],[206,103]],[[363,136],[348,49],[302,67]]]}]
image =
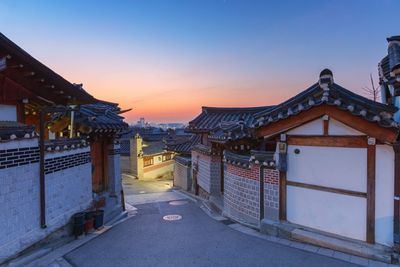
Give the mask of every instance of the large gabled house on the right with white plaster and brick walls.
[{"label": "large gabled house on the right with white plaster and brick walls", "polygon": [[[209,157],[223,144],[225,215],[270,234],[393,260],[400,241],[400,38],[388,42],[379,64],[383,103],[334,83],[325,69],[308,89],[252,113],[250,124],[221,123],[204,110],[191,122]],[[217,121],[217,130],[202,130],[204,119]],[[241,140],[246,145],[235,150]],[[199,184],[210,189],[208,181],[221,176],[199,162]],[[346,242],[353,245],[338,245]]]}]

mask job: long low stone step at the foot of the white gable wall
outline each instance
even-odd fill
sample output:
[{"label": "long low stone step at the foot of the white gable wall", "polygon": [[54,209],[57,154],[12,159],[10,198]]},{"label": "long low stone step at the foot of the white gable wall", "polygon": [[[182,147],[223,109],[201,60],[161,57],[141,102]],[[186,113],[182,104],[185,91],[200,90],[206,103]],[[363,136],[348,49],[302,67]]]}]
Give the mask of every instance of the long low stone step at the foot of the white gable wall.
[{"label": "long low stone step at the foot of the white gable wall", "polygon": [[291,232],[291,238],[300,242],[310,243],[364,258],[394,263],[392,251],[381,245],[366,244],[361,241],[343,239],[299,228]]}]

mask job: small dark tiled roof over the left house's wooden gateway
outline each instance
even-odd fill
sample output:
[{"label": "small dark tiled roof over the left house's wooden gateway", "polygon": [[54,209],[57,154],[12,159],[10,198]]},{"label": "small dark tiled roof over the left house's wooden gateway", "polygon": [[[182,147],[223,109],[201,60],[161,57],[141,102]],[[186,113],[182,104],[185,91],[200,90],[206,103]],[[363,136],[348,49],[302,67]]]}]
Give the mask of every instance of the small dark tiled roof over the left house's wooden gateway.
[{"label": "small dark tiled roof over the left house's wooden gateway", "polygon": [[124,117],[118,115],[119,111],[117,104],[107,102],[82,105],[76,121],[89,126],[94,132],[122,133],[128,129],[128,124],[123,121]]}]

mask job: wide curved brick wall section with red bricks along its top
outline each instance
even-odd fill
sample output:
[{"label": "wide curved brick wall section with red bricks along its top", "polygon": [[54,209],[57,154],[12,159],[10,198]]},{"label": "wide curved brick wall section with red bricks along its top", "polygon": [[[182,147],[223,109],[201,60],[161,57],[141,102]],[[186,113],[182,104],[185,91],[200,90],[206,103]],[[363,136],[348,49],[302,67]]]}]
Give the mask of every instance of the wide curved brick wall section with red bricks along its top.
[{"label": "wide curved brick wall section with red bricks along its top", "polygon": [[260,168],[241,168],[225,163],[224,213],[252,225],[260,218]]}]

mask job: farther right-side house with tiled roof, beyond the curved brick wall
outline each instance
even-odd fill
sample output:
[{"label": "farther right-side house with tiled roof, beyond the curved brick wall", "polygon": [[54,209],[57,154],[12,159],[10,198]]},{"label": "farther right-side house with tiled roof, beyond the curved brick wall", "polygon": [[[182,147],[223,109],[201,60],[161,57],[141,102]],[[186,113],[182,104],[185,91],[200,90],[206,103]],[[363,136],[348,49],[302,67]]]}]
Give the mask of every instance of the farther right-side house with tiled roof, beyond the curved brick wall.
[{"label": "farther right-side house with tiled roof, beyond the curved brick wall", "polygon": [[[196,193],[208,198],[220,198],[224,192],[223,151],[229,147],[235,151],[250,151],[254,142],[250,140],[248,126],[253,115],[270,107],[217,108],[203,107],[202,113],[189,122],[186,131],[200,136],[200,143],[192,148],[193,182]],[[243,140],[235,143],[241,132]],[[227,132],[226,138],[222,133]],[[245,135],[245,136],[244,136]],[[248,137],[248,138],[247,138]]]}]

